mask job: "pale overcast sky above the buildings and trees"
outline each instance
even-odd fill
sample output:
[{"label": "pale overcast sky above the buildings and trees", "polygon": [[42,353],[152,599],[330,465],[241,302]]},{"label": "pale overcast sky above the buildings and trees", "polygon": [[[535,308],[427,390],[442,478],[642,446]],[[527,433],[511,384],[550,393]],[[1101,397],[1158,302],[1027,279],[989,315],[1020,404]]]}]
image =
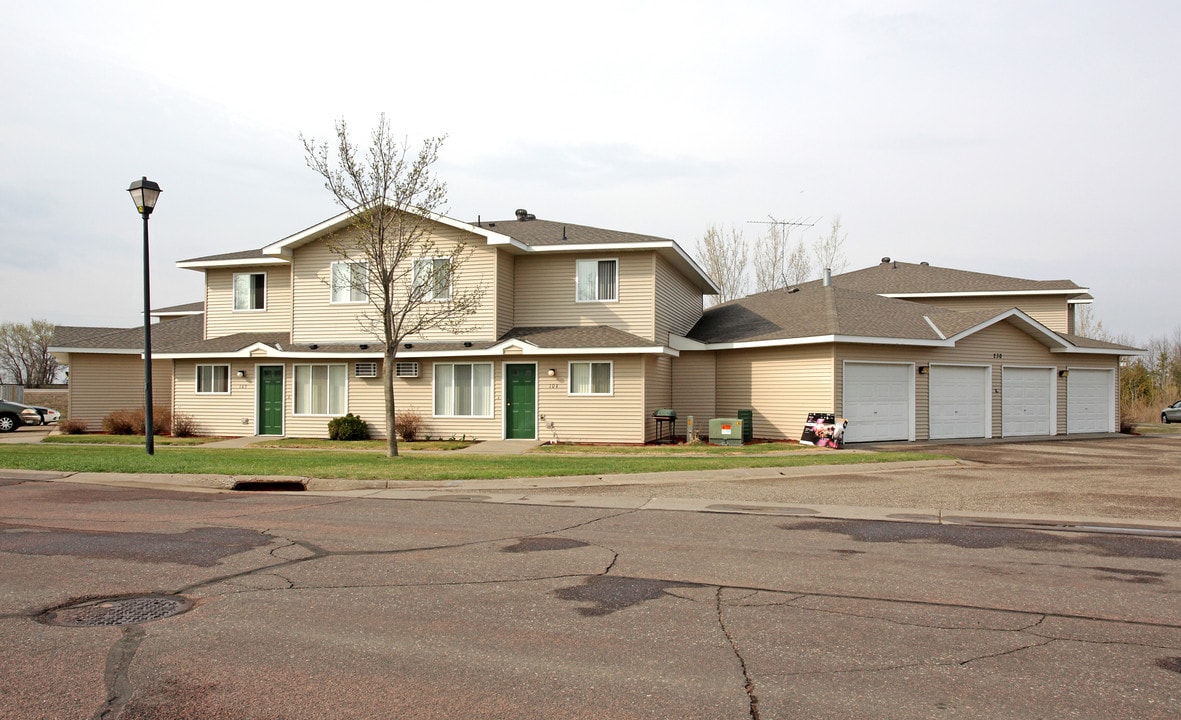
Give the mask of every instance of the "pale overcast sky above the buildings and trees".
[{"label": "pale overcast sky above the buildings and trees", "polygon": [[[177,260],[339,211],[299,135],[446,135],[446,215],[658,235],[834,214],[848,269],[1091,289],[1181,332],[1181,2],[0,0],[0,321],[141,322]],[[364,136],[360,136],[364,137]],[[797,235],[796,237],[798,237]]]}]

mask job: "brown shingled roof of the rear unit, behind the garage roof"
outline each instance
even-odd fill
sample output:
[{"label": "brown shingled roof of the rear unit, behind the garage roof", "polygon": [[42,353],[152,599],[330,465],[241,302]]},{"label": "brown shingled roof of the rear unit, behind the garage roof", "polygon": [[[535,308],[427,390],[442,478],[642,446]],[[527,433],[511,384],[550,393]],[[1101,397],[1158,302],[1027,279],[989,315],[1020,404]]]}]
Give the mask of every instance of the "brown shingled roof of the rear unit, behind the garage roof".
[{"label": "brown shingled roof of the rear unit, behind the garage roof", "polygon": [[[820,287],[814,280],[800,286]],[[970,270],[939,268],[892,260],[833,276],[833,284],[886,297],[945,297],[973,295],[1070,295],[1085,300],[1088,289],[1070,280],[1024,280]],[[1083,297],[1085,295],[1085,297]]]}]

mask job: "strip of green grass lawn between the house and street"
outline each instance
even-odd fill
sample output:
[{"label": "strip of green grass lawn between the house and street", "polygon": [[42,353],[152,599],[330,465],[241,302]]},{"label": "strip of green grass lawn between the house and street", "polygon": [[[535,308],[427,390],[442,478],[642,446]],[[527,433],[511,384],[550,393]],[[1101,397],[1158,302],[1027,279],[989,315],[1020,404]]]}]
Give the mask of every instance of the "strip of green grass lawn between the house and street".
[{"label": "strip of green grass lawn between the house and street", "polygon": [[[599,449],[602,450],[602,449]],[[920,452],[843,452],[796,454],[550,454],[406,453],[230,447],[156,449],[103,445],[0,445],[0,467],[67,472],[131,472],[313,478],[446,480],[575,474],[627,474],[678,470],[727,470],[798,465],[846,465],[944,458]]]}]

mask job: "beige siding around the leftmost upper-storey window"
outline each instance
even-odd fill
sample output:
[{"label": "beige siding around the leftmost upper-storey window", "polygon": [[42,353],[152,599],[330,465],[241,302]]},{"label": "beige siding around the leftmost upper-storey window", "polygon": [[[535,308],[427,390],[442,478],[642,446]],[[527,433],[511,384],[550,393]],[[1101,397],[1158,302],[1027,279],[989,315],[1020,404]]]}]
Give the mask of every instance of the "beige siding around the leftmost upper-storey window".
[{"label": "beige siding around the leftmost upper-storey window", "polygon": [[[267,276],[265,310],[234,309],[234,275]],[[292,329],[292,271],[287,266],[211,268],[205,270],[205,339],[234,333],[288,333]]]}]

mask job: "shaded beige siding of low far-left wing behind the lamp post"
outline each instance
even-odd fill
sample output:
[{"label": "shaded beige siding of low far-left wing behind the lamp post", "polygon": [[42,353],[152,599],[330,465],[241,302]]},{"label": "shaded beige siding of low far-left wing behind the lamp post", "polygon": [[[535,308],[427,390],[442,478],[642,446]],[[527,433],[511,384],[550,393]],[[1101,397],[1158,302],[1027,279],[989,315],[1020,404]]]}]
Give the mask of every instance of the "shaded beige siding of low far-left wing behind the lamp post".
[{"label": "shaded beige siding of low far-left wing behind the lamp post", "polygon": [[[172,361],[152,360],[152,405],[172,406]],[[144,359],[138,354],[70,353],[70,419],[90,432],[116,410],[144,406]]]}]

